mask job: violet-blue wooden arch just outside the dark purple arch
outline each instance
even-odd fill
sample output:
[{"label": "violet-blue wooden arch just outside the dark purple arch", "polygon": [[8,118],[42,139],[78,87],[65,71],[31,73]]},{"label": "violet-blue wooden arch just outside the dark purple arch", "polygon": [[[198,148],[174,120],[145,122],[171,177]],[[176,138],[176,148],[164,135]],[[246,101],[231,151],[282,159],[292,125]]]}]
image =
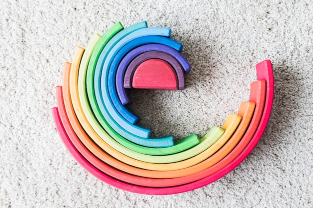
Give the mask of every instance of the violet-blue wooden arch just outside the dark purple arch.
[{"label": "violet-blue wooden arch just outside the dark purple arch", "polygon": [[[130,63],[132,59],[134,59],[136,56],[143,52],[151,51],[151,50],[156,50],[156,51],[162,51],[170,54],[173,56],[181,65],[185,73],[188,73],[191,69],[188,61],[179,53],[177,50],[174,48],[171,48],[167,45],[163,44],[147,44],[147,45],[141,45],[133,50],[131,50],[123,59],[120,61],[117,71],[116,71],[116,76],[115,76],[115,85],[116,85],[116,90],[117,90],[117,95],[118,98],[121,102],[121,104],[126,105],[130,104],[131,100],[129,98],[129,95],[127,91],[125,91],[123,87],[123,80],[124,80],[124,74],[126,71],[126,67]],[[112,83],[112,82],[110,82]]]}]

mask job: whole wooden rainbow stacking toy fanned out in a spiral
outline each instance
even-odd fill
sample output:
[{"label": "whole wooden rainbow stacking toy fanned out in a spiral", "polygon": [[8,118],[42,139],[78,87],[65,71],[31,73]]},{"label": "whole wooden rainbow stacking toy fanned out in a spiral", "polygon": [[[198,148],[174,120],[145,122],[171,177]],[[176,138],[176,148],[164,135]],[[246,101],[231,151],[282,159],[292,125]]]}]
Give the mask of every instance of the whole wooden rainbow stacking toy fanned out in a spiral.
[{"label": "whole wooden rainbow stacking toy fanned out in a spiral", "polygon": [[66,148],[90,174],[129,192],[176,194],[218,180],[255,147],[273,102],[270,60],[256,64],[249,101],[202,138],[191,134],[175,143],[172,136],[150,138],[150,129],[136,125],[139,117],[125,106],[127,90],[184,89],[191,67],[181,49],[169,28],[117,22],[65,63],[52,114]]}]

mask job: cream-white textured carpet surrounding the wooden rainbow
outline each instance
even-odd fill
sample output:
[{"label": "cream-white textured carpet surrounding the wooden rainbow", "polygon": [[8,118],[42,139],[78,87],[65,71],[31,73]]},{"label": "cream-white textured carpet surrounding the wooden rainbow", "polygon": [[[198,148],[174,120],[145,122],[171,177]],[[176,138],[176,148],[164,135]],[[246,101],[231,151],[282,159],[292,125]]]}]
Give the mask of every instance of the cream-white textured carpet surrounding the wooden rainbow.
[{"label": "cream-white textured carpet surrounding the wooden rainbow", "polygon": [[[311,0],[4,0],[0,5],[0,207],[313,207]],[[171,27],[192,66],[182,91],[135,91],[153,135],[203,136],[249,97],[255,64],[272,61],[272,114],[232,172],[178,195],[118,190],[62,144],[50,109],[75,47],[116,21]],[[142,96],[142,94],[144,96]]]}]

